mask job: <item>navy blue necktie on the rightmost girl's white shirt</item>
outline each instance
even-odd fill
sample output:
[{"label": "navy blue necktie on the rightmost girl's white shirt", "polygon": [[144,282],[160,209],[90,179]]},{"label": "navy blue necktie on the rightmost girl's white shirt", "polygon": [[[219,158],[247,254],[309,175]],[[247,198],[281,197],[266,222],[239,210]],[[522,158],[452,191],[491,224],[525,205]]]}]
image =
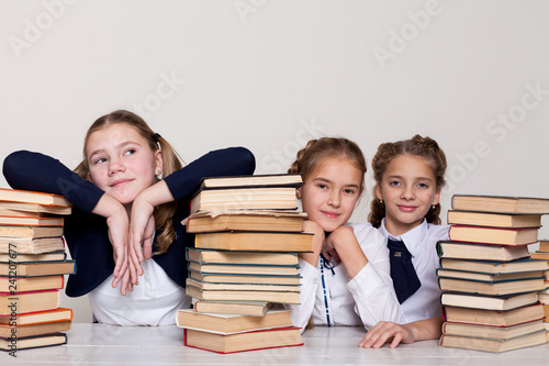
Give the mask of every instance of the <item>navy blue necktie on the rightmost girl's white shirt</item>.
[{"label": "navy blue necktie on the rightmost girl's white shirt", "polygon": [[393,279],[394,291],[400,303],[417,291],[422,281],[417,278],[412,254],[402,241],[393,241],[388,237],[389,260],[391,262],[391,278]]}]

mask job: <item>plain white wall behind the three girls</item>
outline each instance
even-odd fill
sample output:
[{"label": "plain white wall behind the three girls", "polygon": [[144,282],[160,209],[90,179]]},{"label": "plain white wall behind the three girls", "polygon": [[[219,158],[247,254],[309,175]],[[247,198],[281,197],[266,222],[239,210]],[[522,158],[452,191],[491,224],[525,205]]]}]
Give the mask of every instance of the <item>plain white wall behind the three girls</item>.
[{"label": "plain white wall behind the three girls", "polygon": [[[349,137],[370,160],[419,133],[447,153],[445,211],[453,193],[549,197],[548,11],[544,0],[0,0],[0,158],[26,148],[74,168],[91,122],[130,109],[187,162],[244,145],[257,173],[282,173],[312,137]],[[85,297],[61,304],[89,321]]]}]

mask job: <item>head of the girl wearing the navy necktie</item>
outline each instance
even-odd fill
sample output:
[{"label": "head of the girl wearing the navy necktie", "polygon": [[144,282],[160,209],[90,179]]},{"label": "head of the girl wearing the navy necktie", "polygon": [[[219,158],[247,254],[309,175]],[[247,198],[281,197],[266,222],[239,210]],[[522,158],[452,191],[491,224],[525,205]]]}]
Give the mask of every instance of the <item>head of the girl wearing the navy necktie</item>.
[{"label": "head of the girl wearing the navy necktie", "polygon": [[372,158],[373,200],[368,217],[392,235],[401,235],[419,225],[424,219],[440,224],[440,190],[446,185],[446,155],[430,137],[415,135],[410,140],[379,145]]}]

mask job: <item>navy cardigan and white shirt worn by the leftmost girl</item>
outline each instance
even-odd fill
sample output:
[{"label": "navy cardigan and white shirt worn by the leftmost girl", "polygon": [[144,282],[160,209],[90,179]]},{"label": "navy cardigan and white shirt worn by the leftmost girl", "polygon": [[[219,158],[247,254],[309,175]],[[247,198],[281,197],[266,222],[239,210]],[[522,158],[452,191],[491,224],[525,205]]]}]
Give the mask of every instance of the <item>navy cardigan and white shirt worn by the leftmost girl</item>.
[{"label": "navy cardigan and white shirt worn by the leftmost girl", "polygon": [[[112,289],[109,295],[96,293],[99,297],[96,296],[91,304],[98,315],[102,317],[104,313],[103,320],[109,323],[173,324],[175,317],[166,321],[171,315],[166,317],[160,309],[170,309],[169,312],[173,313],[176,307],[190,306],[190,299],[184,295],[187,279],[184,252],[186,247],[193,246],[194,235],[187,234],[184,226],[181,225],[181,221],[189,215],[190,197],[203,177],[250,175],[254,170],[254,155],[244,147],[232,147],[210,152],[166,177],[165,182],[173,199],[179,202],[172,218],[176,239],[166,253],[154,255],[145,264],[146,274],[139,278],[139,285],[134,287],[133,295],[123,300],[130,299],[127,311],[123,313],[119,311],[116,301],[121,300],[122,296],[119,293],[116,295],[119,299],[113,299],[112,296],[120,290]],[[63,195],[74,204],[71,214],[65,218],[64,236],[70,255],[76,260],[77,273],[69,276],[66,293],[79,297],[98,288],[103,292],[109,290],[114,259],[107,219],[91,212],[104,192],[92,182],[78,177],[59,160],[40,153],[27,151],[12,153],[4,159],[3,174],[8,184],[15,189]],[[156,245],[153,249],[154,252],[157,249]],[[139,288],[142,281],[143,287]],[[158,302],[159,299],[167,301]],[[145,304],[133,307],[137,302]],[[148,304],[154,306],[148,307]],[[102,309],[102,306],[105,308]],[[150,309],[150,314],[142,317],[146,309]],[[122,319],[124,317],[128,319]],[[149,320],[143,323],[143,318]]]}]

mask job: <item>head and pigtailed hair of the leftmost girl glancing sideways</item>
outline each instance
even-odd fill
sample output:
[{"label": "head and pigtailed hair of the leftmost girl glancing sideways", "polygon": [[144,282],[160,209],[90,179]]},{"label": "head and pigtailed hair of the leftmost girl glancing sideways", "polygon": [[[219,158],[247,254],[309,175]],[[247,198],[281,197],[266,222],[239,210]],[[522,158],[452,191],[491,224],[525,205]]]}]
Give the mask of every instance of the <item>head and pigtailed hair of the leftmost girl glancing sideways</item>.
[{"label": "head and pigtailed hair of the leftmost girl glancing sideways", "polygon": [[[91,124],[83,143],[83,159],[75,168],[81,178],[113,196],[127,210],[146,188],[182,167],[171,145],[137,114],[117,110]],[[171,218],[177,203],[155,209],[159,253],[173,242]]]}]

